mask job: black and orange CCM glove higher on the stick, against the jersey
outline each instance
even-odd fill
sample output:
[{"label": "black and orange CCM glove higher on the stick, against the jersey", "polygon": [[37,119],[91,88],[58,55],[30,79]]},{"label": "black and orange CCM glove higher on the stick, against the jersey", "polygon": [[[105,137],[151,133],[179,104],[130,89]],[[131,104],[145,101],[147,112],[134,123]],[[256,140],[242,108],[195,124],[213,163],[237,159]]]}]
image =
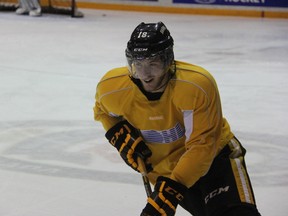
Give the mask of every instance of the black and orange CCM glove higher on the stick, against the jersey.
[{"label": "black and orange CCM glove higher on the stick, against the jersey", "polygon": [[144,143],[137,129],[128,121],[117,123],[107,131],[105,136],[117,148],[125,163],[134,170],[142,172],[142,170],[139,170],[137,163],[137,158],[141,157],[146,165],[147,172],[152,171],[151,164],[147,162],[152,152]]}]

